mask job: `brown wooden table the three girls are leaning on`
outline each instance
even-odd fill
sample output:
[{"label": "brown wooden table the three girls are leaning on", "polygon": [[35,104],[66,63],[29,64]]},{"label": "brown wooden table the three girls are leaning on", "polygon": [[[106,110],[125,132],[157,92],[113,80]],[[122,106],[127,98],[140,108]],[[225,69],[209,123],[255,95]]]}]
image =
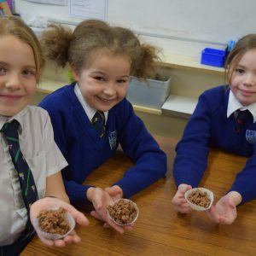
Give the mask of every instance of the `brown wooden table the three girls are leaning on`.
[{"label": "brown wooden table the three girls are leaning on", "polygon": [[[133,231],[119,235],[85,213],[90,227],[76,227],[82,237],[78,245],[50,248],[35,237],[22,255],[256,255],[256,201],[238,207],[238,217],[230,226],[213,224],[205,212],[177,214],[171,203],[176,192],[172,179],[176,141],[163,137],[157,140],[168,155],[168,175],[132,198],[140,209]],[[245,162],[245,158],[213,149],[201,186],[212,189],[218,200]],[[117,181],[128,166],[131,161],[119,152],[93,172],[86,183],[105,188]]]}]

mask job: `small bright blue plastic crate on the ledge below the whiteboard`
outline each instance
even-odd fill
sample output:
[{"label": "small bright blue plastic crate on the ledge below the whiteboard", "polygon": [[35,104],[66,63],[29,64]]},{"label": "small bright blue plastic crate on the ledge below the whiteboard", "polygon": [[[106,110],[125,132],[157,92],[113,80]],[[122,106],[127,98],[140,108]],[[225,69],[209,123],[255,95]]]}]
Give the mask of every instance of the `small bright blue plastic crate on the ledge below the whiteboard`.
[{"label": "small bright blue plastic crate on the ledge below the whiteboard", "polygon": [[201,64],[224,67],[227,52],[224,49],[206,48],[201,52]]}]

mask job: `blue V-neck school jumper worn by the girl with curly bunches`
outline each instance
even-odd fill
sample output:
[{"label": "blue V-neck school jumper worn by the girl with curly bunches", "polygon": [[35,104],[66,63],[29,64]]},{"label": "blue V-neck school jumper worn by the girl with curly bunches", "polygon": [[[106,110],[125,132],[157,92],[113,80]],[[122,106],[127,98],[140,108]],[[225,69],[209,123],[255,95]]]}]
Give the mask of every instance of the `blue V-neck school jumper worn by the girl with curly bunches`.
[{"label": "blue V-neck school jumper worn by the girl with curly bunches", "polygon": [[[93,113],[86,114],[90,111],[83,107],[86,102],[75,85],[56,90],[39,104],[49,112],[55,142],[69,165],[62,176],[70,201],[87,201],[86,191],[90,186],[82,184],[84,179],[113,156],[119,143],[135,164],[115,183],[123,189],[125,197],[164,177],[166,154],[134,113],[131,103],[124,99],[104,113],[107,122],[105,136],[101,138],[91,124]],[[96,109],[91,111],[96,112]]]}]

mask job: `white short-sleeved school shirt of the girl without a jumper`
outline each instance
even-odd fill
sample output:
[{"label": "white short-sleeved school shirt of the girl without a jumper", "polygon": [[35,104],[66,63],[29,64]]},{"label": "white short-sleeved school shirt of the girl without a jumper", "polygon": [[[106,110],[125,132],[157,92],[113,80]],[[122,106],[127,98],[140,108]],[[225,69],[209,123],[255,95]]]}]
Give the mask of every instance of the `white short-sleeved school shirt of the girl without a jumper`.
[{"label": "white short-sleeved school shirt of the girl without a jumper", "polygon": [[[60,172],[67,166],[67,161],[54,142],[49,115],[44,109],[27,106],[11,118],[0,116],[0,129],[5,122],[14,119],[20,124],[20,151],[32,171],[38,198],[42,198],[46,189],[46,177]],[[4,246],[13,247],[15,241],[20,239],[20,234],[26,229],[28,216],[21,195],[18,173],[2,132],[0,143],[0,253],[5,254]]]}]

